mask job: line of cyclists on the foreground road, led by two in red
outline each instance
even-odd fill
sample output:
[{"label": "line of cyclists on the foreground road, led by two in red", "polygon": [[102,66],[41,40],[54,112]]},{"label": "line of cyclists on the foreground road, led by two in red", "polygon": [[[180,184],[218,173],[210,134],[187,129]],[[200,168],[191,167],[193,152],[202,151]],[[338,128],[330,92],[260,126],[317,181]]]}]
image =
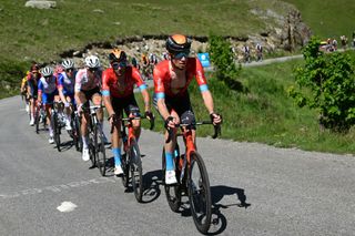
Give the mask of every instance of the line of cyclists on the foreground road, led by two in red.
[{"label": "line of cyclists on the foreground road, led by two in red", "polygon": [[[209,90],[203,66],[197,58],[190,55],[191,39],[183,34],[170,35],[165,48],[169,57],[160,61],[153,69],[154,95],[153,104],[165,124],[165,140],[172,135],[170,142],[164,142],[165,150],[165,184],[175,184],[173,151],[176,143],[178,124],[192,124],[193,140],[195,141],[194,112],[189,96],[189,84],[195,78],[205,107],[209,111],[214,125],[222,123],[222,116],[214,110],[213,98]],[[94,105],[102,105],[108,113],[109,124],[112,126],[111,144],[114,157],[114,174],[122,175],[121,166],[121,135],[120,122],[115,122],[125,113],[129,117],[141,116],[141,111],[133,92],[139,88],[144,101],[144,116],[153,120],[151,98],[142,75],[135,66],[129,63],[124,51],[113,49],[108,60],[110,66],[102,70],[97,55],[84,59],[84,68],[77,69],[73,60],[64,59],[55,68],[51,65],[39,66],[33,62],[30,66],[21,91],[27,91],[29,99],[30,125],[34,125],[34,112],[37,107],[44,107],[49,129],[49,143],[53,141],[53,127],[51,124],[51,106],[54,101],[63,104],[65,130],[70,131],[72,113],[77,111],[81,115],[82,160],[89,161],[88,140],[88,106],[90,101]],[[103,129],[103,110],[97,112],[100,127]],[[141,134],[140,120],[132,120],[134,135],[139,140]],[[168,133],[170,130],[170,134]],[[171,132],[172,131],[172,132]]]}]

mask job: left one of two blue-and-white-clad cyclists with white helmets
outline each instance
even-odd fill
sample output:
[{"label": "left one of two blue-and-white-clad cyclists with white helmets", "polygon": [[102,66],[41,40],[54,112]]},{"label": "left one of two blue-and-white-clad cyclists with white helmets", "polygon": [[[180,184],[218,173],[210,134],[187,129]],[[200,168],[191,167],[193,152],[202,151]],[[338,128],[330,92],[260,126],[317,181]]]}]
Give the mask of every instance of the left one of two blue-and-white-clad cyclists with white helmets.
[{"label": "left one of two blue-and-white-clad cyclists with white helmets", "polygon": [[[53,126],[51,123],[51,107],[54,102],[54,96],[58,96],[57,78],[53,75],[53,69],[45,66],[41,70],[42,78],[38,82],[38,104],[44,105],[47,114],[47,124],[49,127],[49,143],[54,143]],[[58,100],[58,98],[55,98]]]}]

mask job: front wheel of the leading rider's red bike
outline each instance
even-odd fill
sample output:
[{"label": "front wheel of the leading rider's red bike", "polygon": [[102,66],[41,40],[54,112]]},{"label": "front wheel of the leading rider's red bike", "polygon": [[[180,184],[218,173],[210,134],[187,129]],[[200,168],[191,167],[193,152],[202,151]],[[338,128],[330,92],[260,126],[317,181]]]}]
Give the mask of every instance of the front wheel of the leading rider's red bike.
[{"label": "front wheel of the leading rider's red bike", "polygon": [[202,234],[209,232],[212,217],[211,188],[206,167],[199,153],[190,154],[187,192],[191,214]]}]

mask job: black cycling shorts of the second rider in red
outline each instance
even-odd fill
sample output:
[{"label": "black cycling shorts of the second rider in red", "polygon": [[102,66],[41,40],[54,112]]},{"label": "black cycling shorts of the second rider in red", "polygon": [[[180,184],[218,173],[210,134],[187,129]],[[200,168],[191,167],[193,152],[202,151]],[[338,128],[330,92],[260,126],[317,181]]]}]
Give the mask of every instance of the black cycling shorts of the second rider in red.
[{"label": "black cycling shorts of the second rider in red", "polygon": [[129,96],[125,96],[125,98],[111,96],[111,104],[112,104],[114,113],[119,117],[122,117],[123,111],[126,116],[129,116],[130,114],[132,114],[134,116],[141,116],[140,107],[138,106],[138,103],[135,101],[133,93]]}]

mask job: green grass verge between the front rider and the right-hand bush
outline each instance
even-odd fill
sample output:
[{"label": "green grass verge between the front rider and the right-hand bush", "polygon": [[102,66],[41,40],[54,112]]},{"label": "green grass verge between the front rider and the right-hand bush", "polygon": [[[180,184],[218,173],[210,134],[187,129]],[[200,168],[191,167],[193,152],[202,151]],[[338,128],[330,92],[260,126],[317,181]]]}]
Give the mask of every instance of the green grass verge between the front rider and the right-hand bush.
[{"label": "green grass verge between the front rider and the right-hand bush", "polygon": [[[302,60],[295,60],[244,69],[237,80],[248,90],[247,93],[232,91],[213,74],[207,74],[216,111],[224,119],[222,137],[278,147],[355,154],[355,130],[346,135],[320,132],[316,112],[300,109],[287,96],[287,89],[294,85],[292,71],[302,63]],[[209,120],[195,82],[190,94],[197,120]],[[162,131],[163,123],[160,117],[158,121],[156,127]],[[212,134],[210,126],[199,129],[199,135]]]}]

